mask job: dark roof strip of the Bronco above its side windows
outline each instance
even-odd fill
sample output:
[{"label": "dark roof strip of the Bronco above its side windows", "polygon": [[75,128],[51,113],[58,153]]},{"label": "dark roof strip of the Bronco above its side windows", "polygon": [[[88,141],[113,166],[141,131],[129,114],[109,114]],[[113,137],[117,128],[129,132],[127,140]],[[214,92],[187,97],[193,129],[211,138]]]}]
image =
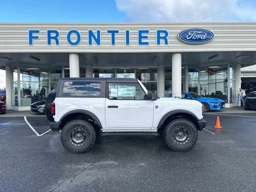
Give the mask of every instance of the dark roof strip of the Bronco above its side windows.
[{"label": "dark roof strip of the Bronco above its side windows", "polygon": [[137,79],[134,78],[99,78],[99,77],[69,77],[69,78],[60,78],[60,81],[72,81],[72,80],[81,80],[81,81],[106,81],[106,82],[130,82],[136,83]]}]

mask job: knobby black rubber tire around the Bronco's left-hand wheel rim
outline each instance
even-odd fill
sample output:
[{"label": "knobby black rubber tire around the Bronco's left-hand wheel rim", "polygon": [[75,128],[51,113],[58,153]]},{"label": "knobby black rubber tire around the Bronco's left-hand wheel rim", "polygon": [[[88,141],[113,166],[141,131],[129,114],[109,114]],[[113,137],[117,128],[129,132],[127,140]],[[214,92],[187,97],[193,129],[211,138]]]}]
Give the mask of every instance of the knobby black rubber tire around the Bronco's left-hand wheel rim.
[{"label": "knobby black rubber tire around the Bronco's left-hand wheel rim", "polygon": [[[72,130],[80,129],[82,132],[86,132],[86,141],[79,146],[70,137]],[[92,124],[85,120],[72,120],[68,122],[60,134],[62,145],[72,153],[84,153],[90,150],[96,140],[96,132]],[[84,139],[85,140],[85,139]],[[76,146],[75,146],[76,145]]]}]

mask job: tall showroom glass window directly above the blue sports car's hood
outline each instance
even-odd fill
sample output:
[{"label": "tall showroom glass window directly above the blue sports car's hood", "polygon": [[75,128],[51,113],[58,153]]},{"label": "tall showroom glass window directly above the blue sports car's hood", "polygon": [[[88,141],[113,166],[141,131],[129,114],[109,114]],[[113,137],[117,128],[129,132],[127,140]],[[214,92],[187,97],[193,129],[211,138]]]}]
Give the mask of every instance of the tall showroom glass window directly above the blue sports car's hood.
[{"label": "tall showroom glass window directly above the blue sports car's hood", "polygon": [[200,95],[228,102],[227,65],[200,67]]}]

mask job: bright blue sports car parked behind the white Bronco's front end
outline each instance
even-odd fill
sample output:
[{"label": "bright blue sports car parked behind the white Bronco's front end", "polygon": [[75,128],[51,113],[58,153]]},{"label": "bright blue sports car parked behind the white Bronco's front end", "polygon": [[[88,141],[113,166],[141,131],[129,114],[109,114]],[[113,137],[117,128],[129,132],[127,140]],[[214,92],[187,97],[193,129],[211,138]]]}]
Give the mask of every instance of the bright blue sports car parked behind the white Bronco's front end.
[{"label": "bright blue sports car parked behind the white Bronco's front end", "polygon": [[[172,97],[170,94],[169,97]],[[210,110],[220,110],[225,108],[225,101],[218,98],[202,97],[195,93],[184,92],[181,94],[182,99],[198,100],[204,105],[204,112],[209,112]]]}]

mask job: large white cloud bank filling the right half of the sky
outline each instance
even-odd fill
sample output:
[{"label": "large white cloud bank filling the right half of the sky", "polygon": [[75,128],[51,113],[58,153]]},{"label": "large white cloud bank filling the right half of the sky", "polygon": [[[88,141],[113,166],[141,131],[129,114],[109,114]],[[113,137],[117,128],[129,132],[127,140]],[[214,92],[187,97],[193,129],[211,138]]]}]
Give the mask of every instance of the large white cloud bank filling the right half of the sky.
[{"label": "large white cloud bank filling the right half of the sky", "polygon": [[124,22],[256,21],[255,0],[116,0]]}]

